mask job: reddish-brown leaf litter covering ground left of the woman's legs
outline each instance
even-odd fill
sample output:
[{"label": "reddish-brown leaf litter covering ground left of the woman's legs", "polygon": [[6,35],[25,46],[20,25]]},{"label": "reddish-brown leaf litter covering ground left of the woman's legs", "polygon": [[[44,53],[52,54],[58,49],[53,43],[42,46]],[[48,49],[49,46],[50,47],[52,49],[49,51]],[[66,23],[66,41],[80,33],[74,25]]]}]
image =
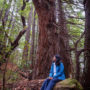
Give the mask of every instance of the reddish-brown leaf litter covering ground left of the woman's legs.
[{"label": "reddish-brown leaf litter covering ground left of the woman's legs", "polygon": [[[6,90],[40,90],[44,80],[45,79],[37,79],[37,80],[23,79],[15,83],[6,84]],[[0,83],[0,90],[2,90],[1,83]]]}]

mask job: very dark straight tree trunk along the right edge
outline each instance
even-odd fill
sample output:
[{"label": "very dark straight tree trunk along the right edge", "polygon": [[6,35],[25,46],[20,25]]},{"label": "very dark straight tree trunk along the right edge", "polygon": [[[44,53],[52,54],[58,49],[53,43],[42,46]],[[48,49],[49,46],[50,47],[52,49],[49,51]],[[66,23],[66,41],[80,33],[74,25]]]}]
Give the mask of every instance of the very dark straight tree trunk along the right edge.
[{"label": "very dark straight tree trunk along the right edge", "polygon": [[84,87],[90,90],[90,0],[85,0],[85,68]]}]

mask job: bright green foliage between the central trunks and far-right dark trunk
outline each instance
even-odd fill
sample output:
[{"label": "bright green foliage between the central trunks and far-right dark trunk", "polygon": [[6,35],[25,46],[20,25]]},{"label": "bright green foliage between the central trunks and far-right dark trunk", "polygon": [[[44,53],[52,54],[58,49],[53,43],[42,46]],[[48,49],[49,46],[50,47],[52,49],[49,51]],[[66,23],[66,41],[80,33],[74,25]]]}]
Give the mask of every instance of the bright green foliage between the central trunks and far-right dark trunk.
[{"label": "bright green foliage between the central trunks and far-right dark trunk", "polygon": [[[74,47],[74,43],[80,38],[81,34],[84,32],[85,23],[83,5],[78,1],[74,1],[73,3],[75,5],[66,3],[63,7],[65,9],[65,12],[67,12],[67,27],[69,30],[71,47]],[[78,6],[81,6],[81,8],[79,8]],[[83,46],[84,40],[82,39],[78,44],[78,48],[83,48]]]}]

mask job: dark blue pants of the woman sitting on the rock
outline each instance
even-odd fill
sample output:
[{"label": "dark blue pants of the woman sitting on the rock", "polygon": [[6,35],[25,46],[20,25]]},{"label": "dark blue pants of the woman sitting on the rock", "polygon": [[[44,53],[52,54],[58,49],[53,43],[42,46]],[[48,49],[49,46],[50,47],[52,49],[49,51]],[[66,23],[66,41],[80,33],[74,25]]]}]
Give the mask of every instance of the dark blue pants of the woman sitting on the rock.
[{"label": "dark blue pants of the woman sitting on the rock", "polygon": [[53,87],[55,86],[55,84],[57,83],[57,82],[59,82],[59,81],[61,81],[60,79],[57,79],[57,78],[55,78],[55,79],[49,79],[49,78],[47,78],[45,81],[44,81],[44,83],[43,83],[43,85],[42,85],[42,87],[41,87],[41,90],[53,90]]}]

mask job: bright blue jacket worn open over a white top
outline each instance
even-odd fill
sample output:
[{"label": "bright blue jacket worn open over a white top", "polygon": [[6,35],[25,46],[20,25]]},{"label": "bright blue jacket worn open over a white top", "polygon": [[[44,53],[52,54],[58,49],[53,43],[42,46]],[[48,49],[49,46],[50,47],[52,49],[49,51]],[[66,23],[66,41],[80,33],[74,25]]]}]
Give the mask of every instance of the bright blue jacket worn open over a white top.
[{"label": "bright blue jacket worn open over a white top", "polygon": [[49,77],[58,78],[60,80],[65,79],[64,65],[62,62],[60,62],[60,65],[56,65],[56,75],[55,76],[53,76],[53,72],[54,72],[54,64],[52,63]]}]

